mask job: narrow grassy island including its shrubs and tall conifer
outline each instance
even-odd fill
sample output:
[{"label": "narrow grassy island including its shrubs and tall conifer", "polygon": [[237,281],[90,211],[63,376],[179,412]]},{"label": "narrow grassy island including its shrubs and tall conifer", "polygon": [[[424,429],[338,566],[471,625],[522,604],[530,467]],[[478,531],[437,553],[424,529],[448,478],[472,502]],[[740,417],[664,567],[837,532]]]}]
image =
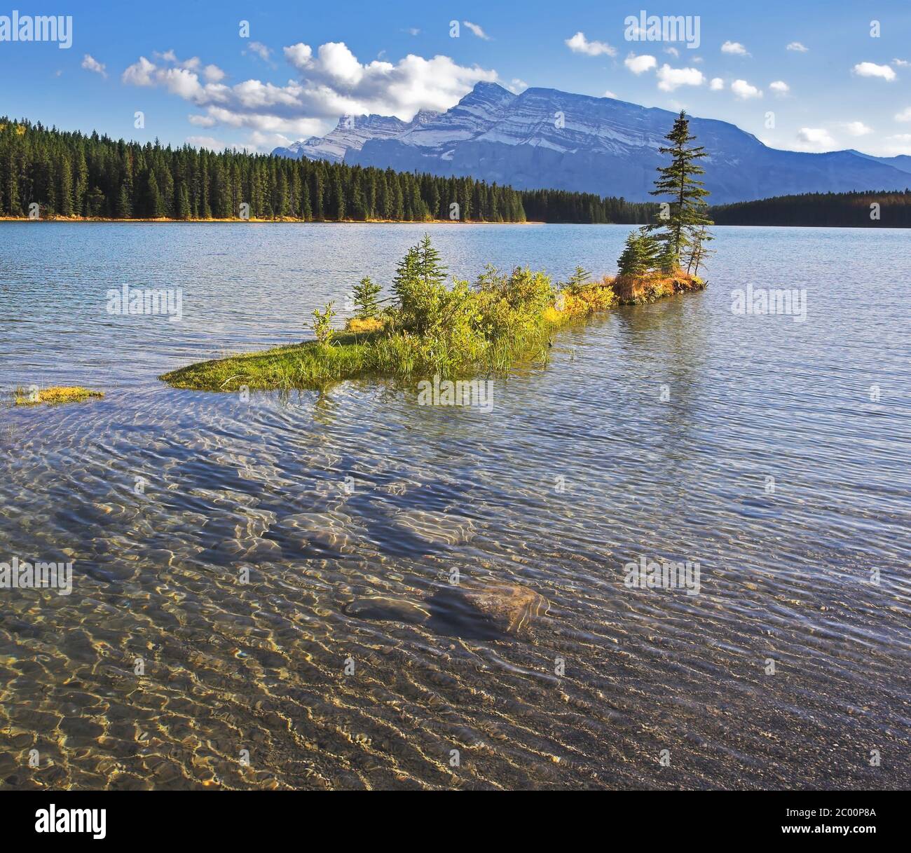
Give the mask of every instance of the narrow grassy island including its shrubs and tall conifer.
[{"label": "narrow grassy island including its shrubs and tall conifer", "polygon": [[705,287],[699,277],[711,225],[696,176],[701,147],[691,147],[681,112],[660,149],[654,195],[668,195],[659,222],[632,231],[616,277],[598,281],[581,267],[565,283],[528,267],[500,272],[488,265],[474,283],[446,284],[446,268],[429,235],[399,262],[392,294],[369,277],[353,289],[354,316],[343,332],[332,327],[328,303],[313,312],[314,339],[263,353],[234,355],[181,367],[160,378],[203,391],[318,389],[357,378],[408,380],[502,375],[546,352],[561,327],[619,304],[644,304]]}]

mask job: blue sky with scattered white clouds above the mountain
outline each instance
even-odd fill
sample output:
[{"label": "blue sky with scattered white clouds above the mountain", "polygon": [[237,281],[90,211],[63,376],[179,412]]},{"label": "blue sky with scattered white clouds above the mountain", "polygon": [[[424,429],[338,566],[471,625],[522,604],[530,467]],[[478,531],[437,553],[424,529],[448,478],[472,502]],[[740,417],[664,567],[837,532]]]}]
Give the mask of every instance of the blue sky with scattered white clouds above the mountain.
[{"label": "blue sky with scattered white clouds above the mountain", "polygon": [[[114,137],[271,150],[345,112],[446,108],[488,79],[686,108],[776,148],[911,154],[906,0],[45,0],[0,4],[0,16],[14,9],[72,15],[73,43],[0,41],[0,114]],[[625,18],[640,10],[698,16],[700,45],[627,39]]]}]

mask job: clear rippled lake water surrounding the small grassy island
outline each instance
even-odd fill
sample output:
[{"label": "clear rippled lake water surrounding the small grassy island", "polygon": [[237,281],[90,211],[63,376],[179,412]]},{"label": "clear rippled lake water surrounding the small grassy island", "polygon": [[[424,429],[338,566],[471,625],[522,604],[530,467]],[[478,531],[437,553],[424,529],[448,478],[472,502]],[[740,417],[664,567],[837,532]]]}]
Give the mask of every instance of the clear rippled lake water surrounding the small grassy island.
[{"label": "clear rippled lake water surrounding the small grassy island", "polygon": [[[70,596],[0,591],[0,784],[908,786],[907,234],[719,228],[709,290],[558,335],[489,414],[155,378],[301,339],[425,230],[457,274],[558,277],[628,231],[0,224],[0,389],[107,392],[0,408],[0,561],[75,560]],[[123,283],[182,322],[107,314]],[[746,283],[807,321],[733,315]],[[628,589],[643,555],[701,594]],[[453,568],[549,611],[477,639],[353,606]]]}]

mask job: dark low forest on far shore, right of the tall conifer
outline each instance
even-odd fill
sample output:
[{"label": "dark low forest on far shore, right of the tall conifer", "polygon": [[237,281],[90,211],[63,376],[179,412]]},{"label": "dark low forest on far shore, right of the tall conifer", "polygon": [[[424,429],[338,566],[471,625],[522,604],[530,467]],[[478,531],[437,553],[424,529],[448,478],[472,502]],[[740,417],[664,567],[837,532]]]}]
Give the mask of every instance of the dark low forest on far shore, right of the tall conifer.
[{"label": "dark low forest on far shore, right of the tall conifer", "polygon": [[808,192],[804,195],[739,201],[713,207],[711,218],[716,225],[911,228],[911,190]]}]

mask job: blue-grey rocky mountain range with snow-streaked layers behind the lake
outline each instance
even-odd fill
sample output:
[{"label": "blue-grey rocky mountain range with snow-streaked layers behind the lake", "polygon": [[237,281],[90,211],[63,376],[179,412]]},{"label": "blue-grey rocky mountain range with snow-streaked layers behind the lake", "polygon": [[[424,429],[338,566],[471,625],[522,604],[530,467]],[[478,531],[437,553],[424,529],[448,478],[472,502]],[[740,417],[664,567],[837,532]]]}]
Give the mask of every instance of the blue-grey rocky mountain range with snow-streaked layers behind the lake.
[{"label": "blue-grey rocky mountain range with snow-streaked layers behind the lake", "polygon": [[[547,88],[514,95],[496,83],[478,83],[445,113],[422,111],[412,121],[344,116],[322,139],[272,153],[471,176],[517,190],[574,190],[646,201],[654,200],[649,191],[655,167],[667,160],[658,148],[675,115],[615,98]],[[690,126],[697,144],[709,152],[702,163],[712,204],[911,187],[911,157],[906,155],[783,151],[726,121],[691,118]]]}]

